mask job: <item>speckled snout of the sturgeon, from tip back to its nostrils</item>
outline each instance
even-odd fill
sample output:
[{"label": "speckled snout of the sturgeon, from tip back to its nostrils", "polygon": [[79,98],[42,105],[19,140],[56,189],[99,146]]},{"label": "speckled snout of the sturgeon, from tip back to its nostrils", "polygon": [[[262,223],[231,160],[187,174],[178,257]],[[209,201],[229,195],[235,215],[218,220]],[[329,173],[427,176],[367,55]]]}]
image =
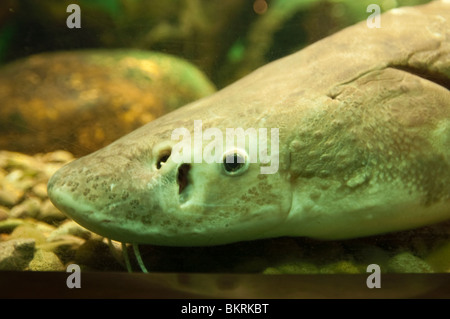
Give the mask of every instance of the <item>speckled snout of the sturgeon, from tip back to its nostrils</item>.
[{"label": "speckled snout of the sturgeon, from tip back to its nostrils", "polygon": [[133,158],[100,155],[75,160],[50,178],[48,195],[61,212],[124,242],[152,238],[173,222],[167,212],[179,209],[188,193],[191,164],[174,162],[170,147]]}]

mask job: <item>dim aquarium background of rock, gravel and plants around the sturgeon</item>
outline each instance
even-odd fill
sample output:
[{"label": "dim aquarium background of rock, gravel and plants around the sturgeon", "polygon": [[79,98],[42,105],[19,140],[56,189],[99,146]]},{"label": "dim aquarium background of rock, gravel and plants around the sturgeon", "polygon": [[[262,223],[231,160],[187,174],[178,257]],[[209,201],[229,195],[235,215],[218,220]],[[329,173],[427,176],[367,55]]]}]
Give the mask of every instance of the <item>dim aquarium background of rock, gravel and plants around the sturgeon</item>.
[{"label": "dim aquarium background of rock, gravel and plants around the sturgeon", "polygon": [[[371,3],[384,12],[426,2],[80,0],[81,28],[68,28],[75,1],[1,1],[0,270],[126,271],[120,245],[49,201],[59,167],[366,19]],[[450,272],[450,223],[346,241],[141,249],[156,272]]]}]

